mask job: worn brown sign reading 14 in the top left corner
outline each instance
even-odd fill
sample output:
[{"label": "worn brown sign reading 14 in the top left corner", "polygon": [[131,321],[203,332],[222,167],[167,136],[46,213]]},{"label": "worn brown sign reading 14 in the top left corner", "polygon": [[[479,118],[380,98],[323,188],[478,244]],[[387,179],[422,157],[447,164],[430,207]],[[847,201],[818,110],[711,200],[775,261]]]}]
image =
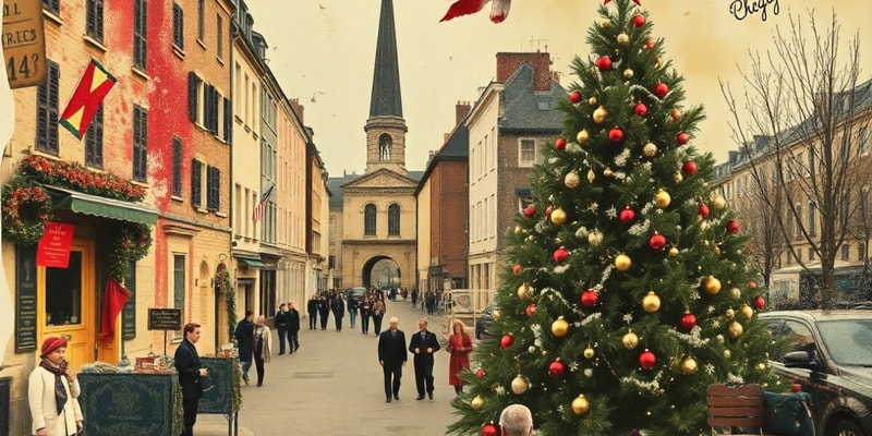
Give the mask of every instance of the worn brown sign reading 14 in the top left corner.
[{"label": "worn brown sign reading 14 in the top left corner", "polygon": [[43,2],[3,0],[3,57],[9,87],[36,86],[46,80]]}]

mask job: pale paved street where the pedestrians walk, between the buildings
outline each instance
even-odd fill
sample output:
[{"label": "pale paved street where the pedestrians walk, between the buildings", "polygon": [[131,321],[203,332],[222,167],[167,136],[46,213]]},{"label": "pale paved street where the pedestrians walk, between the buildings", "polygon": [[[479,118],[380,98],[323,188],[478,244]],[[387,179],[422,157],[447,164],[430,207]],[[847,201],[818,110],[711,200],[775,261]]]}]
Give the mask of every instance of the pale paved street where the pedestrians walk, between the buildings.
[{"label": "pale paved street where the pedestrians walk, between the buildings", "polygon": [[[398,300],[387,303],[383,328],[397,316],[407,342],[417,331],[417,319],[426,317],[428,329],[443,342],[433,370],[434,400],[415,401],[412,355],[403,367],[400,401],[385,402],[382,367],[377,360],[378,337],[371,330],[361,334],[360,318],[351,328],[349,317],[337,332],[330,318],[326,330],[310,330],[308,318],[301,320],[300,350],[278,355],[274,330],[272,360],[266,364],[263,387],[242,386],[239,435],[359,435],[439,436],[453,421],[452,386],[448,385],[447,330],[441,318],[427,316],[412,304]],[[469,326],[472,331],[473,326]],[[252,366],[250,376],[256,377]],[[194,427],[197,436],[228,434],[222,415],[199,414]]]}]

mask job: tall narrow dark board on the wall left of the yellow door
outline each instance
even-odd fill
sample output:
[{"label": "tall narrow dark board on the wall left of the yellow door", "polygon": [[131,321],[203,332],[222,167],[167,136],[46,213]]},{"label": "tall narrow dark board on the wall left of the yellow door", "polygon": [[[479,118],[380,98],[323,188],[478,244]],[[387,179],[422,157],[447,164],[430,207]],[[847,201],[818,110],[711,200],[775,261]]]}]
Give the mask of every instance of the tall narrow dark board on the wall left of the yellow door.
[{"label": "tall narrow dark board on the wall left of the yellow door", "polygon": [[36,350],[36,246],[19,246],[15,256],[15,352]]}]

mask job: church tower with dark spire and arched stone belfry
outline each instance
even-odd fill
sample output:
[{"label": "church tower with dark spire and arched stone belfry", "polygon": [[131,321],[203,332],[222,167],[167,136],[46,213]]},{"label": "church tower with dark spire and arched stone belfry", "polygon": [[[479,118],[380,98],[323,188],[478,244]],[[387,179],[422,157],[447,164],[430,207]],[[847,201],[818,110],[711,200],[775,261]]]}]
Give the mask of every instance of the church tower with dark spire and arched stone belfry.
[{"label": "church tower with dark spire and arched stone belfry", "polygon": [[363,130],[366,132],[366,173],[388,169],[405,175],[405,132],[409,129],[402,118],[392,0],[382,0],[370,118]]}]

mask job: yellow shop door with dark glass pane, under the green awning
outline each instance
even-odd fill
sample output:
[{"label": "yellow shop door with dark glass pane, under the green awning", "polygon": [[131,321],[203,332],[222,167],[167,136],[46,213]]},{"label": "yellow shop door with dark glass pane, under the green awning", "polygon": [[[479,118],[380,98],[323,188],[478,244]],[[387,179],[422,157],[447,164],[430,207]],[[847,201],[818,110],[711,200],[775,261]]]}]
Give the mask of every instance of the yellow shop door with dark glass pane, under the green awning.
[{"label": "yellow shop door with dark glass pane, under the green awning", "polygon": [[[80,370],[94,362],[96,318],[94,304],[94,243],[73,240],[66,268],[38,267],[37,314],[41,326],[39,342],[50,336],[68,340],[66,360]],[[37,353],[39,349],[37,348]]]}]

